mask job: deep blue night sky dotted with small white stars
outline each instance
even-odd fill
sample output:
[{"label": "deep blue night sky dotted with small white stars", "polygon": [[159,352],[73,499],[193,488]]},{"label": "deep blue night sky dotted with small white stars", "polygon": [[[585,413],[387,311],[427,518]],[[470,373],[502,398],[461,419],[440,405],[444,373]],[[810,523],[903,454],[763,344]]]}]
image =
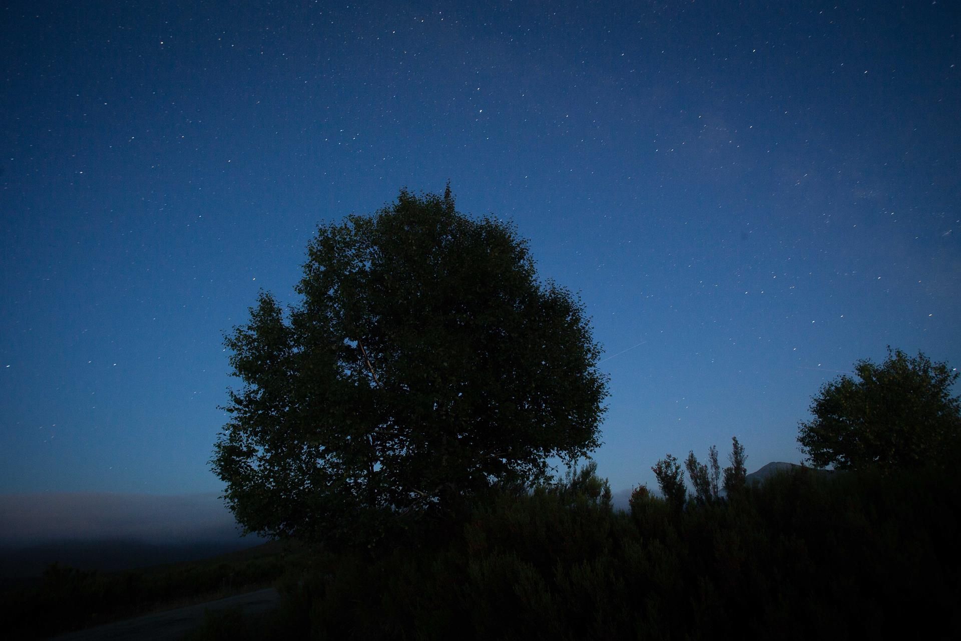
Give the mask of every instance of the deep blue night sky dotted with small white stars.
[{"label": "deep blue night sky dotted with small white stars", "polygon": [[0,492],[222,488],[223,333],[400,188],[579,292],[599,472],[801,459],[885,346],[961,363],[956,2],[12,2]]}]

